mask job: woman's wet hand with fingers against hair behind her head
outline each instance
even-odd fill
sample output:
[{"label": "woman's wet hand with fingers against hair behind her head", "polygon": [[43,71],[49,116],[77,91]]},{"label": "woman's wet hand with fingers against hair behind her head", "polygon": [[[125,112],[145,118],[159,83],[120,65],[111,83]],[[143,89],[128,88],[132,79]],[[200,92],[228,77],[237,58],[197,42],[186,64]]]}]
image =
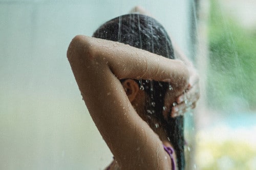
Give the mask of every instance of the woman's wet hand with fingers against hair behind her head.
[{"label": "woman's wet hand with fingers against hair behind her head", "polygon": [[173,103],[171,117],[183,115],[186,111],[194,109],[200,98],[199,76],[194,67],[189,67],[189,84],[183,94],[176,98]]}]

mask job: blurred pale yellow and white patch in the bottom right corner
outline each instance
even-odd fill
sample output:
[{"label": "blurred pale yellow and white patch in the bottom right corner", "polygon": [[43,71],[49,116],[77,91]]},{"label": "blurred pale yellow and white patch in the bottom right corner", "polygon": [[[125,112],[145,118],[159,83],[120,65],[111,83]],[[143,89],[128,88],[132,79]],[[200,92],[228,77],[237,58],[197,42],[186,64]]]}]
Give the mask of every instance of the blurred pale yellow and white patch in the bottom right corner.
[{"label": "blurred pale yellow and white patch in the bottom right corner", "polygon": [[231,129],[216,126],[197,134],[198,169],[256,169],[256,126]]}]

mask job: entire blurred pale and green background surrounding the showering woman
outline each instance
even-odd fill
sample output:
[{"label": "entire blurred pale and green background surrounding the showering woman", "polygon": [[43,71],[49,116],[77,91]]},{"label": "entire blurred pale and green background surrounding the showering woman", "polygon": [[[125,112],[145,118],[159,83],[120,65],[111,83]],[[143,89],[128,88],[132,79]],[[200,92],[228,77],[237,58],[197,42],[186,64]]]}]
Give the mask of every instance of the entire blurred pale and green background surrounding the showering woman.
[{"label": "entire blurred pale and green background surrounding the showering woman", "polygon": [[103,169],[112,154],[66,58],[77,34],[139,5],[199,70],[187,169],[256,169],[256,2],[0,0],[0,169]]}]

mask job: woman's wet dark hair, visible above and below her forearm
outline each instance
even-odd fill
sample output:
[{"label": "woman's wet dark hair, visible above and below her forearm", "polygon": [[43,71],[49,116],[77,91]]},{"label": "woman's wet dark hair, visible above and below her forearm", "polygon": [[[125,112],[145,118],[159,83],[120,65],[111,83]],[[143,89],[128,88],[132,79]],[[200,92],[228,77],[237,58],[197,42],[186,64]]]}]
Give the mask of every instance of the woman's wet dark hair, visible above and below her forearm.
[{"label": "woman's wet dark hair, visible above and below her forearm", "polygon": [[[93,37],[118,41],[141,48],[151,53],[174,59],[174,50],[163,26],[154,18],[141,14],[127,14],[111,19],[100,26]],[[168,134],[169,141],[176,151],[179,169],[184,169],[183,116],[163,117],[164,96],[169,90],[166,82],[137,80],[149,96],[146,101],[147,118],[154,116]],[[170,109],[172,110],[172,109]],[[155,127],[157,128],[158,125]]]}]

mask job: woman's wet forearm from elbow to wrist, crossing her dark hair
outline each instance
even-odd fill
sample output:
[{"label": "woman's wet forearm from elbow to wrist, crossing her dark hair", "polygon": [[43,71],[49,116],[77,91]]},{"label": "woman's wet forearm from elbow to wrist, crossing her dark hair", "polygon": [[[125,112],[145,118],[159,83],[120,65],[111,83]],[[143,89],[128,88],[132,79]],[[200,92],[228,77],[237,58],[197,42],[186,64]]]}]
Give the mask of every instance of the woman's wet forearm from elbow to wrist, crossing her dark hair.
[{"label": "woman's wet forearm from elbow to wrist, crossing her dark hair", "polygon": [[[79,50],[84,62],[107,64],[118,79],[153,79],[179,90],[187,85],[188,71],[179,60],[170,60],[139,48],[87,36],[76,36],[69,51]],[[69,57],[68,52],[68,57]]]}]

